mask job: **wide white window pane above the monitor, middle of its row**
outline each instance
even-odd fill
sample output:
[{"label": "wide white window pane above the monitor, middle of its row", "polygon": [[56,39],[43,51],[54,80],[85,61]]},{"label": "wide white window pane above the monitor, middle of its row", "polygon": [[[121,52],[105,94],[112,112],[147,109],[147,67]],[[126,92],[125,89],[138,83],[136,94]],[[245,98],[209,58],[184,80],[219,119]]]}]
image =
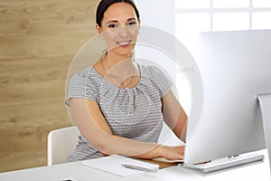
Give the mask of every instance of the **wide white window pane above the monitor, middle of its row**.
[{"label": "wide white window pane above the monitor, middle of its row", "polygon": [[249,29],[248,13],[216,13],[213,14],[213,30],[246,30]]}]

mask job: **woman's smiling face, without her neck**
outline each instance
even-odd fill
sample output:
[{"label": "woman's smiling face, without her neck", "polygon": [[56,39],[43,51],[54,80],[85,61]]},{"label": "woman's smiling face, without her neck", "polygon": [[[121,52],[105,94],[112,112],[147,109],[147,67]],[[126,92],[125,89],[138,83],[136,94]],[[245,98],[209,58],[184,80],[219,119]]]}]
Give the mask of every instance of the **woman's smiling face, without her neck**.
[{"label": "woman's smiling face, without her neck", "polygon": [[116,3],[108,7],[97,30],[106,41],[108,52],[129,56],[135,48],[139,24],[132,5]]}]

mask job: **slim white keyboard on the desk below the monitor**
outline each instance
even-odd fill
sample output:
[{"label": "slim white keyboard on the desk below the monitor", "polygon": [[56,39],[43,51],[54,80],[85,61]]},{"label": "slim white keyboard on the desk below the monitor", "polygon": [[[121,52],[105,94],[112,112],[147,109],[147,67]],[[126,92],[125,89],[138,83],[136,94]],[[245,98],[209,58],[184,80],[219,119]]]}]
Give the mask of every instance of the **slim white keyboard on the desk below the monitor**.
[{"label": "slim white keyboard on the desk below the monitor", "polygon": [[188,167],[192,169],[198,169],[202,173],[207,174],[210,172],[218,171],[221,169],[229,168],[229,167],[237,167],[241,165],[245,165],[248,163],[256,162],[263,160],[265,157],[263,155],[257,153],[246,153],[242,155],[238,155],[235,157],[223,157],[219,159],[215,159],[208,163],[195,164],[195,165],[186,165],[180,164],[181,167]]}]

